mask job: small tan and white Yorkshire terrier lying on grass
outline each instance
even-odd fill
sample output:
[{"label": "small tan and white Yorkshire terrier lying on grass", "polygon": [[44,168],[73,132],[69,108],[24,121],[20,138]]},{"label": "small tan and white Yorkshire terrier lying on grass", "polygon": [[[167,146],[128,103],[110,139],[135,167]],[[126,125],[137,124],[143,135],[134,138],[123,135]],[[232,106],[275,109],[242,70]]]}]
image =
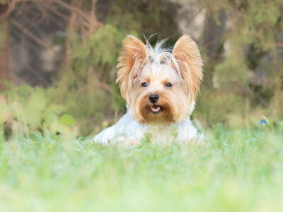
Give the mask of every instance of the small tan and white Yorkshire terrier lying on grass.
[{"label": "small tan and white Yorkshire terrier lying on grass", "polygon": [[95,143],[192,142],[199,138],[190,120],[203,78],[202,57],[195,41],[183,35],[173,50],[166,40],[155,47],[128,35],[118,58],[117,80],[127,113],[96,135]]}]

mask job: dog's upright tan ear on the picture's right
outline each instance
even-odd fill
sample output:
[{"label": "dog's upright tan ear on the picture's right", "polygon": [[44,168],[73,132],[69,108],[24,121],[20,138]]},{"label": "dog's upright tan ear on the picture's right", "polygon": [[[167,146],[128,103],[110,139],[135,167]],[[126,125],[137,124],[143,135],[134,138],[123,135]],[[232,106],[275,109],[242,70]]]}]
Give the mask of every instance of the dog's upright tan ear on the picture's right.
[{"label": "dog's upright tan ear on the picture's right", "polygon": [[189,35],[183,35],[175,43],[172,52],[180,69],[190,97],[194,101],[202,81],[202,57],[195,41]]}]

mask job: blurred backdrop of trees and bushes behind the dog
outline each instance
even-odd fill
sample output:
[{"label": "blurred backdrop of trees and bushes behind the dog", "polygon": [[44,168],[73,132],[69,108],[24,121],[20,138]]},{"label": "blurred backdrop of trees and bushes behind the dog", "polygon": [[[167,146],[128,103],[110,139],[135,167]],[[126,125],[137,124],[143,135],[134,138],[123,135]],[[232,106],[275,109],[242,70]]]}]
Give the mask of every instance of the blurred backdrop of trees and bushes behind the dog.
[{"label": "blurred backdrop of trees and bushes behind the dog", "polygon": [[[122,40],[197,41],[202,129],[283,119],[282,0],[0,0],[0,137],[94,135],[125,113]],[[1,139],[0,139],[1,140]]]}]

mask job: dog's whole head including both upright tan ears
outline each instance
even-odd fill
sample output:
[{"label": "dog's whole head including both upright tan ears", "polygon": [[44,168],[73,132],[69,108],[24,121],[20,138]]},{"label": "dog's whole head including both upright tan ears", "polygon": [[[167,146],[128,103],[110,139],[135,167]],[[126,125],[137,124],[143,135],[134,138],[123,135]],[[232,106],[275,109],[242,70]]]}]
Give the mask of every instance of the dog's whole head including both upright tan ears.
[{"label": "dog's whole head including both upright tan ears", "polygon": [[202,80],[202,59],[190,37],[180,37],[171,54],[128,36],[119,61],[117,82],[137,122],[165,125],[190,112]]}]

